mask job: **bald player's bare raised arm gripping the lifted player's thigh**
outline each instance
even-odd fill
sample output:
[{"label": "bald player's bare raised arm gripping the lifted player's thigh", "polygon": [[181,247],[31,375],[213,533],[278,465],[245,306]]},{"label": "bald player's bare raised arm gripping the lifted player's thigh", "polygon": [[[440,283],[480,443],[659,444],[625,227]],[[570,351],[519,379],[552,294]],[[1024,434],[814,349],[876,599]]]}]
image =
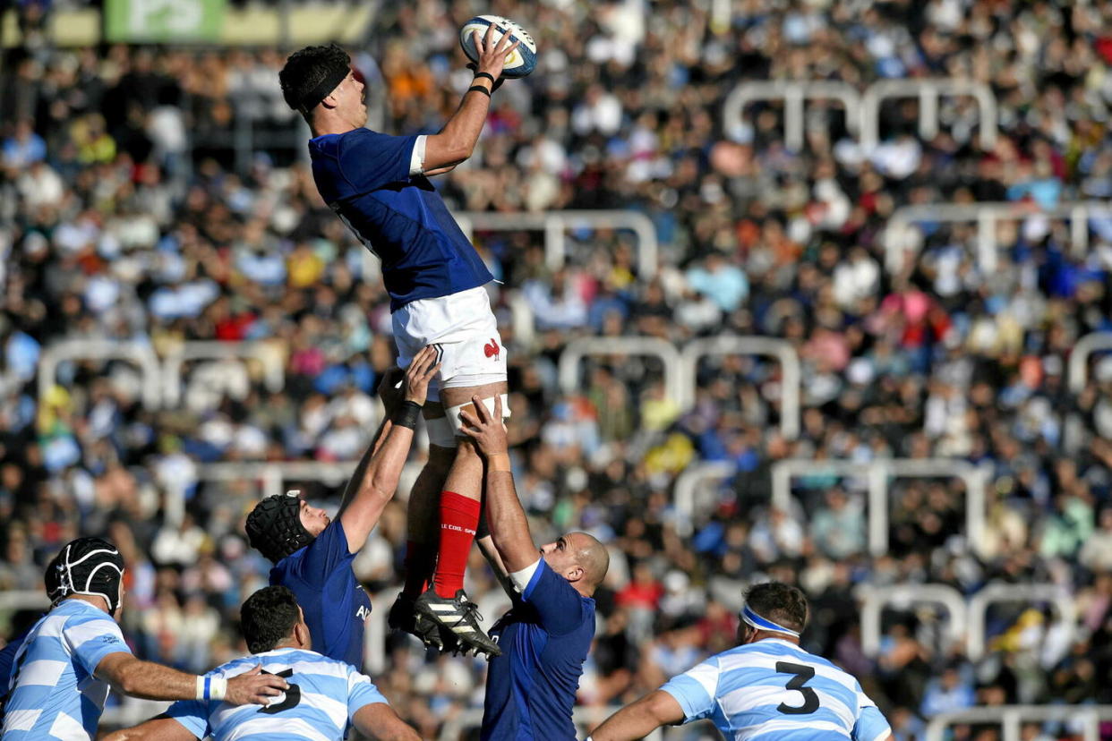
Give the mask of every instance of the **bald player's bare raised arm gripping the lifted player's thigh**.
[{"label": "bald player's bare raised arm gripping the lifted player's thigh", "polygon": [[527,569],[540,557],[514,487],[509,441],[506,427],[502,423],[502,398],[494,398],[494,413],[478,397],[471,402],[471,408],[460,413],[463,431],[475,440],[475,445],[486,459],[487,524],[506,571],[513,573]]}]

